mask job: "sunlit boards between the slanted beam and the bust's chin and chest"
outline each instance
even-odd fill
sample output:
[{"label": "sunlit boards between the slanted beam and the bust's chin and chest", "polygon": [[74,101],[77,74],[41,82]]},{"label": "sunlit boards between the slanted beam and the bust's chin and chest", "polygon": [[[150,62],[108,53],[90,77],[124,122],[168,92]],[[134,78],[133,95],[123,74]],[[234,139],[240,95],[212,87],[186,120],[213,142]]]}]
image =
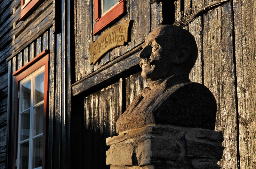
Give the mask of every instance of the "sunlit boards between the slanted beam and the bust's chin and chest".
[{"label": "sunlit boards between the slanted beam and the bust's chin and chest", "polygon": [[149,87],[149,81],[141,77],[141,72],[125,78],[126,109],[145,87]]}]

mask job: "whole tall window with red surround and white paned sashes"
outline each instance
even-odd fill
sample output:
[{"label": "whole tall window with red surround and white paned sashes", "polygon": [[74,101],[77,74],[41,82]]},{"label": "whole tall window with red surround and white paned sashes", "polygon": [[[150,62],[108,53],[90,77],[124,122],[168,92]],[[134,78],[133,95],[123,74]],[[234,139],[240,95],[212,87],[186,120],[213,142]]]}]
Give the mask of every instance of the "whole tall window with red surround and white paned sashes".
[{"label": "whole tall window with red surround and white paned sashes", "polygon": [[48,58],[44,51],[12,74],[15,75],[13,168],[44,169]]}]

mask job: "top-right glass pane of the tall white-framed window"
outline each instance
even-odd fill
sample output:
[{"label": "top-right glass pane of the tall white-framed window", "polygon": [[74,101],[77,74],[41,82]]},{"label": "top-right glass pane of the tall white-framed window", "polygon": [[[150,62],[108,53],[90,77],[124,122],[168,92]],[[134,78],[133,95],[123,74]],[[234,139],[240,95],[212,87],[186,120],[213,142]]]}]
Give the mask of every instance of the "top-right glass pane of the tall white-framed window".
[{"label": "top-right glass pane of the tall white-framed window", "polygon": [[35,103],[37,104],[44,100],[44,72],[35,77]]}]

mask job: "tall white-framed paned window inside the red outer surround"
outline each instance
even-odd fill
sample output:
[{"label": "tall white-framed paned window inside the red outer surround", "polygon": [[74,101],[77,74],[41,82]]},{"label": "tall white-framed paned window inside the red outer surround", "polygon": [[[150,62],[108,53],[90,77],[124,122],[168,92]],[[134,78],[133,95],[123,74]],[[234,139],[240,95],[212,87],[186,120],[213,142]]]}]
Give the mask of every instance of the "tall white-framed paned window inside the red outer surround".
[{"label": "tall white-framed paned window inside the red outer surround", "polygon": [[18,169],[41,169],[44,128],[44,66],[20,81]]}]

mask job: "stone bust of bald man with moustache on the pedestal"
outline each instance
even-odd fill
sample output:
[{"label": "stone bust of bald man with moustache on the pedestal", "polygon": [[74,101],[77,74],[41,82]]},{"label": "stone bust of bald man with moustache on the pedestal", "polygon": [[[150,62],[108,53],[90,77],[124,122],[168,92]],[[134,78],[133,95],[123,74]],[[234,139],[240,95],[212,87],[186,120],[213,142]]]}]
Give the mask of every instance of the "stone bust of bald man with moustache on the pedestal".
[{"label": "stone bust of bald man with moustache on the pedestal", "polygon": [[117,120],[116,132],[154,124],[214,130],[215,97],[204,85],[189,80],[198,55],[193,35],[178,26],[162,25],[142,47],[141,76],[150,87]]}]

